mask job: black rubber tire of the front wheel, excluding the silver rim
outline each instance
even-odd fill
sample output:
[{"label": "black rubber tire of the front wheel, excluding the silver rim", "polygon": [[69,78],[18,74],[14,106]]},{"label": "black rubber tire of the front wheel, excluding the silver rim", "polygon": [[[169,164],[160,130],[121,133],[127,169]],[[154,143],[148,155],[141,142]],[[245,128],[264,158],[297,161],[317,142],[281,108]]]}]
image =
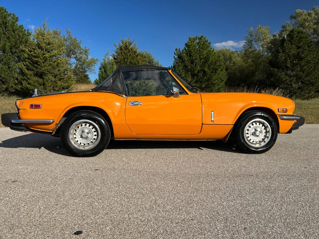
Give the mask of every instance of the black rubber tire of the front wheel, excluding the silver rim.
[{"label": "black rubber tire of the front wheel, excluding the silver rim", "polygon": [[[245,127],[251,120],[255,120],[255,119],[265,120],[271,128],[270,140],[262,147],[253,147],[249,145],[244,138]],[[249,152],[249,153],[258,154],[258,153],[263,153],[268,151],[275,144],[277,140],[277,135],[278,135],[278,128],[277,128],[277,124],[275,120],[269,114],[265,112],[258,112],[258,111],[247,112],[245,115],[241,117],[241,120],[239,121],[239,124],[236,127],[237,142],[245,152]]]}]

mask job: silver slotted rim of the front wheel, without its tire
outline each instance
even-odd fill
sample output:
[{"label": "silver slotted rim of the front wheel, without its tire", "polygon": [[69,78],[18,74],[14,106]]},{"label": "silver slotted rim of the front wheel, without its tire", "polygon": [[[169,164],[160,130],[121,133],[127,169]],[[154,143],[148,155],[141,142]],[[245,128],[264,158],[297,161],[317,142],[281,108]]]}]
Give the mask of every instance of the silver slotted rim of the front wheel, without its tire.
[{"label": "silver slotted rim of the front wheel, without its tire", "polygon": [[243,132],[245,141],[252,147],[262,147],[270,141],[271,127],[266,120],[251,120]]}]

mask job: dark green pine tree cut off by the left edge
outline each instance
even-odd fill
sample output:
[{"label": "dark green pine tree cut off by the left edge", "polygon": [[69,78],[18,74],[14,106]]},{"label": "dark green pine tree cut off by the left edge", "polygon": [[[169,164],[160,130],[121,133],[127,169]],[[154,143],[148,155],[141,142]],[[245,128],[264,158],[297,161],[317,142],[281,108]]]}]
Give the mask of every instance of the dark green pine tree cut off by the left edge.
[{"label": "dark green pine tree cut off by the left edge", "polygon": [[30,33],[19,18],[0,7],[0,92],[14,90],[17,62],[21,61],[23,47],[30,41]]}]

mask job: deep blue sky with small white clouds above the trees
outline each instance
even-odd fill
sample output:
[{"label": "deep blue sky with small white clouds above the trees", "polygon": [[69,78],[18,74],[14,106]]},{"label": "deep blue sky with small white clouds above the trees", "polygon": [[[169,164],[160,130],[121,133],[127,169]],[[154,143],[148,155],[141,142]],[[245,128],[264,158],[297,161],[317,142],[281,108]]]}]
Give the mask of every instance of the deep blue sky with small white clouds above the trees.
[{"label": "deep blue sky with small white clouds above the trees", "polygon": [[[102,59],[108,50],[112,53],[113,43],[130,37],[168,67],[173,64],[175,47],[182,48],[189,36],[203,34],[213,47],[240,49],[251,26],[270,26],[275,33],[296,9],[311,10],[319,2],[2,0],[0,5],[31,31],[47,18],[51,28],[63,33],[70,28],[93,57]],[[96,74],[90,75],[92,81],[99,65]]]}]

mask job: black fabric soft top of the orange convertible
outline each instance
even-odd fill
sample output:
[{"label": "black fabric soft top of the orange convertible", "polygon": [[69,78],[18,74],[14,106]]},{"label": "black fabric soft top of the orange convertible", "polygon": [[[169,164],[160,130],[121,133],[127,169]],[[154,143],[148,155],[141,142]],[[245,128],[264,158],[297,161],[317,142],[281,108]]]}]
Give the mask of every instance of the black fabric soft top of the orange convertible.
[{"label": "black fabric soft top of the orange convertible", "polygon": [[120,95],[127,95],[122,72],[137,70],[170,70],[170,68],[151,65],[119,66],[105,81],[91,91],[112,91]]}]

